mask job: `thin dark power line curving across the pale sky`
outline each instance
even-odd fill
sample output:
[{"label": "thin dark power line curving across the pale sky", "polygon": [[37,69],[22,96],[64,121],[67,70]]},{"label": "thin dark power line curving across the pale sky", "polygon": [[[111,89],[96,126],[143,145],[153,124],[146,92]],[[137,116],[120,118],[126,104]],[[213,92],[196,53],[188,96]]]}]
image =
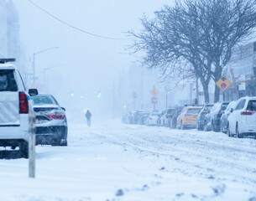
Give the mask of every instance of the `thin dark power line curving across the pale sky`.
[{"label": "thin dark power line curving across the pale sky", "polygon": [[35,4],[33,1],[31,1],[31,0],[28,0],[28,1],[29,1],[29,3],[32,3],[36,8],[39,8],[39,9],[40,9],[41,11],[43,11],[44,13],[50,15],[50,17],[55,18],[56,20],[58,20],[60,23],[64,23],[65,25],[67,25],[67,26],[69,26],[69,27],[71,27],[71,28],[74,28],[74,29],[76,29],[76,30],[78,30],[78,31],[80,31],[80,32],[82,32],[82,33],[86,33],[86,34],[88,34],[88,35],[95,36],[95,37],[102,38],[102,39],[125,40],[125,39],[121,39],[121,38],[118,39],[118,38],[112,38],[112,37],[102,36],[102,35],[98,35],[98,34],[95,34],[95,33],[87,32],[87,31],[85,31],[85,30],[82,30],[81,28],[77,28],[77,27],[73,26],[71,23],[66,23],[65,21],[61,20],[60,18],[55,17],[55,15],[53,15],[53,14],[47,12],[47,11],[44,10],[43,8],[40,8],[39,5]]}]

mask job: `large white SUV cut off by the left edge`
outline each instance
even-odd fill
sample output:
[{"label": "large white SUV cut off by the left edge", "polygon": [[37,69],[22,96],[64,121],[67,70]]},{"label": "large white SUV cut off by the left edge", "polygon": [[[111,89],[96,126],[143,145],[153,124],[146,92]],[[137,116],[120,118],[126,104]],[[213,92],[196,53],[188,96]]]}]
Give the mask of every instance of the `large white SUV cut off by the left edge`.
[{"label": "large white SUV cut off by the left edge", "polygon": [[29,113],[32,101],[15,59],[0,59],[0,147],[19,147],[21,157],[29,157]]}]

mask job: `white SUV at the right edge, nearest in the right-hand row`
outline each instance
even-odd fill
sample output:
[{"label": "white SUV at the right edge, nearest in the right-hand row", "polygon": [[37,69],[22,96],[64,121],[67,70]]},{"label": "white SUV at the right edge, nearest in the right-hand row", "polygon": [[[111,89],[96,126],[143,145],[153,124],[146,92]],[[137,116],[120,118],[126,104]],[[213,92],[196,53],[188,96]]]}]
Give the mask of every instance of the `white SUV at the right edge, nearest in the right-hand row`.
[{"label": "white SUV at the right edge, nearest in the right-hand row", "polygon": [[227,118],[228,136],[256,137],[256,96],[240,98],[231,112]]}]

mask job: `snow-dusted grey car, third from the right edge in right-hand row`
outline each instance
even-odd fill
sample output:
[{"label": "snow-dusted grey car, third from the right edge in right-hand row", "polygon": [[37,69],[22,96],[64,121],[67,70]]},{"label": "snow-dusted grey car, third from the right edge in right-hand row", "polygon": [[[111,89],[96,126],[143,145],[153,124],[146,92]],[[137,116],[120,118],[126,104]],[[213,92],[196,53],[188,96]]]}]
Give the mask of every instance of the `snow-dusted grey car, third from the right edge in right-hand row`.
[{"label": "snow-dusted grey car, third from the right edge in right-hand row", "polygon": [[217,102],[212,110],[206,115],[205,131],[221,131],[221,117],[229,102]]}]

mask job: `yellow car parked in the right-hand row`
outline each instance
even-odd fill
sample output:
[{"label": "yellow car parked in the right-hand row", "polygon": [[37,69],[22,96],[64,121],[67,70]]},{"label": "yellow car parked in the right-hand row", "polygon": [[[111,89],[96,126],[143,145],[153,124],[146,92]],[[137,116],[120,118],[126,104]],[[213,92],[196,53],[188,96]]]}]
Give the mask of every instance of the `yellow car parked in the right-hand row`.
[{"label": "yellow car parked in the right-hand row", "polygon": [[177,128],[196,128],[197,114],[201,108],[201,106],[185,106],[177,117]]}]

